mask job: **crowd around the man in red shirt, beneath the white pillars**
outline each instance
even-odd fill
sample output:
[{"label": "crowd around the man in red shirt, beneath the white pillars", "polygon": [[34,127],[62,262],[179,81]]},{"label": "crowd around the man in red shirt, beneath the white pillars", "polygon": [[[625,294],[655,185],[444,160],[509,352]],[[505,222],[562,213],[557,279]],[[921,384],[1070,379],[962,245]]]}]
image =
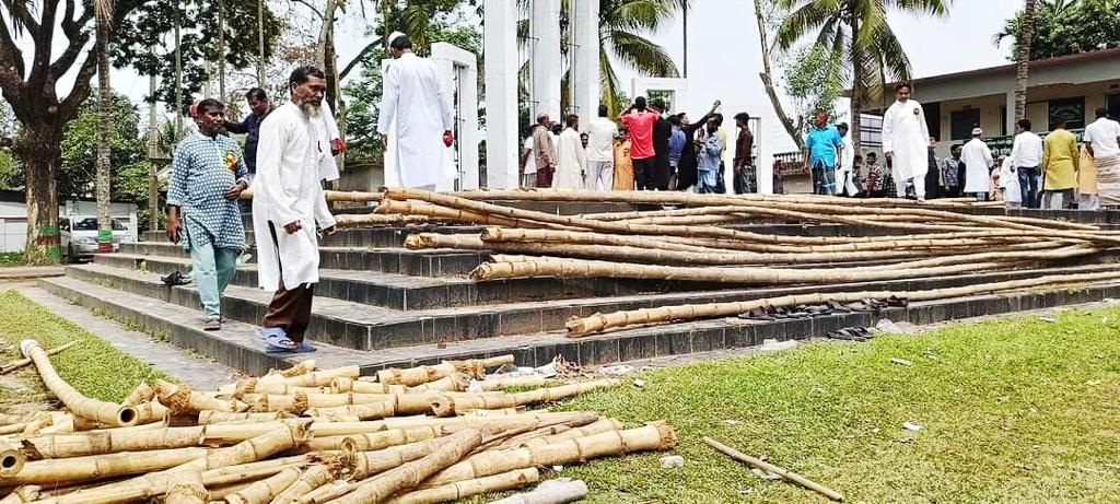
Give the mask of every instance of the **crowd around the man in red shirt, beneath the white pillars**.
[{"label": "crowd around the man in red shirt, beneath the white pillars", "polygon": [[[726,193],[724,155],[732,146],[719,106],[716,102],[692,121],[665,112],[660,99],[638,96],[615,119],[599,105],[582,130],[576,114],[561,125],[541,113],[523,143],[519,180],[522,187],[556,189]],[[756,193],[750,115],[734,119],[732,190]]]}]

